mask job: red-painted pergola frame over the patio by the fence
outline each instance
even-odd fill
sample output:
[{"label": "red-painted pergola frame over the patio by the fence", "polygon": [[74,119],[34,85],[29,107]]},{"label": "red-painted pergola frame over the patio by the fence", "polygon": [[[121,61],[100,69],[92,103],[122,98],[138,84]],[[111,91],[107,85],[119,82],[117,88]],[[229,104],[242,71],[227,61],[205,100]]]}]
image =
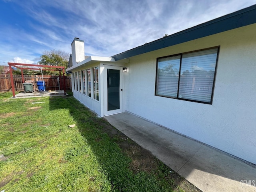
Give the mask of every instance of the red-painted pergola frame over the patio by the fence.
[{"label": "red-painted pergola frame over the patio by the fence", "polygon": [[47,71],[60,71],[60,76],[61,76],[61,70],[63,72],[63,81],[64,81],[64,94],[66,94],[66,84],[65,84],[65,67],[63,66],[49,66],[49,65],[37,65],[37,64],[24,64],[24,63],[9,63],[9,69],[10,69],[10,76],[11,76],[11,84],[12,84],[12,96],[15,98],[15,90],[14,90],[14,81],[13,81],[13,76],[12,76],[12,66],[20,69],[21,71],[21,76],[22,76],[22,83],[24,83],[24,75],[23,75],[23,70],[24,69],[29,69],[29,70],[38,70],[37,68],[33,67],[39,67],[39,70],[47,70]]}]

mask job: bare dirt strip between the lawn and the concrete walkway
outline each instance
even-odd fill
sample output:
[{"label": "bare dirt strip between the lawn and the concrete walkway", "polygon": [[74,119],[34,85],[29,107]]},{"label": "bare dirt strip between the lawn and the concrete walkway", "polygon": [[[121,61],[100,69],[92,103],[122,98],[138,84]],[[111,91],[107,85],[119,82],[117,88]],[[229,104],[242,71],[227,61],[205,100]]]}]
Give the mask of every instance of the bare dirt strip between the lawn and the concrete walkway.
[{"label": "bare dirt strip between the lawn and the concrete walkway", "polygon": [[[130,169],[132,172],[135,174],[141,171],[153,173],[158,170],[158,164],[160,161],[154,155],[152,155],[150,151],[136,144],[136,142],[132,141],[122,132],[110,125],[107,120],[97,118],[93,119],[93,121],[97,122],[102,130],[106,132],[110,138],[113,138],[124,153],[126,153],[132,159],[132,162],[130,163]],[[196,186],[192,185],[178,173],[171,170],[168,166],[165,167],[165,170],[170,170],[170,174],[168,174],[165,179],[174,180],[174,186],[176,187],[174,191],[178,192],[184,190],[189,192],[201,192],[201,190],[196,188]],[[179,186],[179,188],[177,186]],[[180,188],[182,190],[180,190]]]}]

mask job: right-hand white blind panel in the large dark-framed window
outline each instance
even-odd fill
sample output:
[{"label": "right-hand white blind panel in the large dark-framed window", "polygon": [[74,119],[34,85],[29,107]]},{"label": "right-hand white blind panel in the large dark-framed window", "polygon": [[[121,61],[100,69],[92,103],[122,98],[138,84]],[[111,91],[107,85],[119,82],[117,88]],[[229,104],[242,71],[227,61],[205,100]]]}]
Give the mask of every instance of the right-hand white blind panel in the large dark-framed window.
[{"label": "right-hand white blind panel in the large dark-framed window", "polygon": [[182,55],[178,98],[210,102],[218,49]]}]

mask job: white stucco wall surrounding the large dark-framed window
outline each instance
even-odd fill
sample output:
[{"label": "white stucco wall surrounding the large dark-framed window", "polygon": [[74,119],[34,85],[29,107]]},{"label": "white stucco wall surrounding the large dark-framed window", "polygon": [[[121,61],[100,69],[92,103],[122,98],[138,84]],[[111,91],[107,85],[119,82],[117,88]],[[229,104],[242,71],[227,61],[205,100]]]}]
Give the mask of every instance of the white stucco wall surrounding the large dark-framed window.
[{"label": "white stucco wall surrounding the large dark-framed window", "polygon": [[[156,58],[220,46],[213,103],[155,96]],[[256,164],[256,24],[130,58],[125,109]]]}]

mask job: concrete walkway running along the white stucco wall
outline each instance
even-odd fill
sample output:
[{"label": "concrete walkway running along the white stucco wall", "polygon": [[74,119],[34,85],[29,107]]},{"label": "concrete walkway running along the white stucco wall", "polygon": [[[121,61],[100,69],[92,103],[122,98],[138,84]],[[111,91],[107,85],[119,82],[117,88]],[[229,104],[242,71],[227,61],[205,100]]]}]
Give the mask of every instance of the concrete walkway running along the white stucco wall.
[{"label": "concrete walkway running along the white stucco wall", "polygon": [[254,165],[127,112],[105,118],[204,192],[256,192]]}]

